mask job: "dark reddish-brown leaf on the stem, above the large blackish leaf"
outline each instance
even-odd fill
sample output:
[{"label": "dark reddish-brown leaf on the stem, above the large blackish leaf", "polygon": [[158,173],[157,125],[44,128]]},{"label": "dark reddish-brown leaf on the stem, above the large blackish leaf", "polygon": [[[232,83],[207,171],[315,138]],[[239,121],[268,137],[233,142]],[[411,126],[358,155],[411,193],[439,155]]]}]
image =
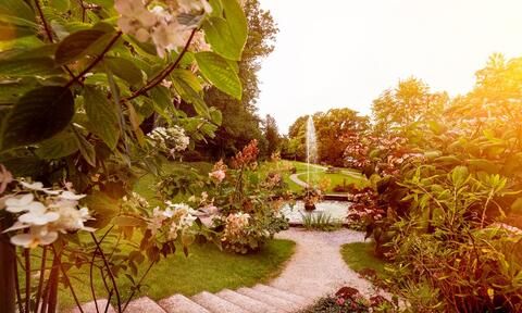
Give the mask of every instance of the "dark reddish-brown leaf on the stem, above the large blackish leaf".
[{"label": "dark reddish-brown leaf on the stem, above the large blackish leaf", "polygon": [[[63,65],[80,59],[82,57],[94,53],[95,43],[102,41],[107,35],[100,29],[86,29],[73,33],[65,37],[58,46],[54,60],[58,64]],[[111,34],[111,36],[113,36]]]}]

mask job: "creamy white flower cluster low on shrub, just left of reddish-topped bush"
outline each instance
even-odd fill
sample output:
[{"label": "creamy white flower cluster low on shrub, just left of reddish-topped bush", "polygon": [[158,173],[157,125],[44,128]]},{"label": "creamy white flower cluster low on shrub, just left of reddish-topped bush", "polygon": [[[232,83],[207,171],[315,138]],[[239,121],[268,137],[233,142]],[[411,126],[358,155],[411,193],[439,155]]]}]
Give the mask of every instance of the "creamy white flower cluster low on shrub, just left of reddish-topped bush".
[{"label": "creamy white flower cluster low on shrub, just left of reddish-topped bush", "polygon": [[169,240],[175,240],[178,231],[185,231],[194,225],[197,220],[197,212],[185,203],[172,203],[166,201],[166,209],[154,208],[152,217],[149,220],[148,229],[156,235],[166,227],[166,237]]}]

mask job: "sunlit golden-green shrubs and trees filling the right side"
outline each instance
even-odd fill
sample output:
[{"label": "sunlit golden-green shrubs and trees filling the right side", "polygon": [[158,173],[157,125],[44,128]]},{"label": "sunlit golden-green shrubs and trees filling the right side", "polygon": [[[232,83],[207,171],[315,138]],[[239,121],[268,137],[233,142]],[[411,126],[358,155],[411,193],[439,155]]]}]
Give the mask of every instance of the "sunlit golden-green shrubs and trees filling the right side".
[{"label": "sunlit golden-green shrubs and trees filling the right side", "polygon": [[450,102],[401,82],[374,102],[373,134],[348,135],[347,161],[373,183],[358,204],[383,215],[368,230],[412,311],[522,309],[522,234],[509,225],[520,226],[520,64],[493,55]]}]

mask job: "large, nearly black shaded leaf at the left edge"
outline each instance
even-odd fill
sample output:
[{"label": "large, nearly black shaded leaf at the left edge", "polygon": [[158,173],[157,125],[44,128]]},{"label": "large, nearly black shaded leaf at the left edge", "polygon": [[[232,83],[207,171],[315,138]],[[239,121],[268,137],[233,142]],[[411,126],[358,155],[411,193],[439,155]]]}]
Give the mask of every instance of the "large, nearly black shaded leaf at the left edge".
[{"label": "large, nearly black shaded leaf at the left edge", "polygon": [[1,149],[34,145],[62,132],[74,115],[69,88],[46,86],[25,93],[1,125]]}]

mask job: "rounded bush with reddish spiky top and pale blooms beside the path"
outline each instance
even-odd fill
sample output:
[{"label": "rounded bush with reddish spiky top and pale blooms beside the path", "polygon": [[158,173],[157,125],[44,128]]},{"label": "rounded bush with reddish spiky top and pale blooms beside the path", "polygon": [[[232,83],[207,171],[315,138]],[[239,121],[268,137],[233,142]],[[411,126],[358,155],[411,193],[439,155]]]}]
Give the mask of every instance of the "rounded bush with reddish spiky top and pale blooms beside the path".
[{"label": "rounded bush with reddish spiky top and pale blooms beside the path", "polygon": [[[291,195],[286,191],[282,175],[269,172],[258,175],[258,146],[253,140],[231,160],[214,164],[208,177],[190,179],[194,188],[204,190],[201,197],[191,197],[200,211],[209,215],[208,226],[214,233],[214,241],[222,248],[237,253],[259,251],[274,234],[286,229],[288,221],[278,210]],[[176,179],[163,179],[160,190],[163,197],[176,190]],[[192,187],[185,186],[188,192]]]}]

